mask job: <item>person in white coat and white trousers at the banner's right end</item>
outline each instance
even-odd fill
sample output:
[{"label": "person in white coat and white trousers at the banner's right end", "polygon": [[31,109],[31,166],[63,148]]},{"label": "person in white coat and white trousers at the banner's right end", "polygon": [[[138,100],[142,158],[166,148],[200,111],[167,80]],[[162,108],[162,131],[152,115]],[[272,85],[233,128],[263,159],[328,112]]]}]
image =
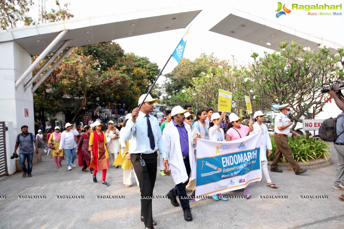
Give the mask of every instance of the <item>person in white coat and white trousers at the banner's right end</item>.
[{"label": "person in white coat and white trousers at the banner's right end", "polygon": [[260,146],[260,163],[261,163],[261,170],[264,173],[266,182],[268,183],[267,186],[271,188],[278,188],[277,185],[271,182],[269,172],[268,172],[268,159],[266,158],[266,149],[268,148],[269,154],[268,156],[271,155],[272,152],[272,145],[271,145],[271,140],[268,132],[268,128],[263,122],[264,116],[266,114],[263,114],[261,111],[257,111],[254,114],[256,122],[252,125],[253,126],[253,131],[250,133],[254,134],[257,132],[261,132],[263,137],[261,138],[261,146]]}]

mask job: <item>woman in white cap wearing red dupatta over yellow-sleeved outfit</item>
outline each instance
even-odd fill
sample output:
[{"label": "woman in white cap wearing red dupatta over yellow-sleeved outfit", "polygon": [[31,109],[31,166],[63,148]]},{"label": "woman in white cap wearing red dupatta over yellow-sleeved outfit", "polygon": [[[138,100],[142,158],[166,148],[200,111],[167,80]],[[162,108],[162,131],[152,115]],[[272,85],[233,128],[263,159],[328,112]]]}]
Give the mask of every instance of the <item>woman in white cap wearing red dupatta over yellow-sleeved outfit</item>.
[{"label": "woman in white cap wearing red dupatta over yellow-sleeved outfit", "polygon": [[92,179],[94,183],[97,183],[97,171],[102,170],[103,173],[103,183],[101,185],[109,186],[105,181],[106,170],[110,168],[109,166],[109,153],[107,151],[107,143],[105,138],[105,133],[101,131],[100,122],[96,121],[93,123],[93,127],[96,129],[89,136],[89,148],[88,151],[91,153],[91,162],[89,168],[94,168]]}]

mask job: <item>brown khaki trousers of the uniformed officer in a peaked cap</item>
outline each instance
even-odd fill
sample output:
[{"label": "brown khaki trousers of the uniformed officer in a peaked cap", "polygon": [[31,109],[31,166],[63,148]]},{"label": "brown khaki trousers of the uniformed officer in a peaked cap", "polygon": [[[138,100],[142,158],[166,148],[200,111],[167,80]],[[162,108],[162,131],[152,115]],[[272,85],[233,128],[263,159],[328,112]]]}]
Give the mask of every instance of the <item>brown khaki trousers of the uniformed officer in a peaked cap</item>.
[{"label": "brown khaki trousers of the uniformed officer in a peaked cap", "polygon": [[293,152],[291,151],[288,145],[288,137],[274,134],[273,138],[275,138],[276,142],[276,152],[275,157],[271,163],[270,169],[277,169],[278,161],[281,159],[282,154],[289,162],[290,166],[293,168],[294,172],[297,173],[301,168],[298,163],[293,158]]}]

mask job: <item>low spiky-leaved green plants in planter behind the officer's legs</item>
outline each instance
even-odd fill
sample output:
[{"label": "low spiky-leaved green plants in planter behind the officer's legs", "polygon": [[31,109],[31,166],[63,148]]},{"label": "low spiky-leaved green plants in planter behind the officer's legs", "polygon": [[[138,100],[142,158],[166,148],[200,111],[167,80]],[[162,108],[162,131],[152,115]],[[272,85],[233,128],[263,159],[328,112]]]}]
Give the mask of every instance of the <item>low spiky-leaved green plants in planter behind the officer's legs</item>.
[{"label": "low spiky-leaved green plants in planter behind the officer's legs", "polygon": [[[270,139],[272,144],[272,153],[268,157],[268,160],[272,161],[273,157],[275,156],[276,142],[273,136],[271,136]],[[327,158],[329,158],[330,155],[330,144],[315,138],[306,139],[305,135],[289,138],[288,145],[293,152],[294,159],[297,162],[301,160],[302,162],[306,163],[310,159],[317,159],[321,157],[325,158],[327,161]],[[286,163],[287,160],[282,155],[282,158],[279,162]]]}]

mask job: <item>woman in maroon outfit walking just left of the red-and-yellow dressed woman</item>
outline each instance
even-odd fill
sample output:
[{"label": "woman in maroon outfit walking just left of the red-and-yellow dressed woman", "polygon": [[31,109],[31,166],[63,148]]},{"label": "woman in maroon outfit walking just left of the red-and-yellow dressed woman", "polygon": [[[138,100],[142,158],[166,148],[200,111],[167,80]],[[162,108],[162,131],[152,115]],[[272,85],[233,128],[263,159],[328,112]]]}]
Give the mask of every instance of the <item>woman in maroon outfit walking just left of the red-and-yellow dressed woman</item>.
[{"label": "woman in maroon outfit walking just left of the red-and-yellow dressed woman", "polygon": [[[83,167],[81,170],[84,172],[88,172],[87,167],[91,162],[91,152],[88,151],[90,131],[89,126],[84,127],[84,133],[80,135],[75,151],[78,154],[78,165]],[[93,168],[90,168],[90,171],[93,173]]]}]

